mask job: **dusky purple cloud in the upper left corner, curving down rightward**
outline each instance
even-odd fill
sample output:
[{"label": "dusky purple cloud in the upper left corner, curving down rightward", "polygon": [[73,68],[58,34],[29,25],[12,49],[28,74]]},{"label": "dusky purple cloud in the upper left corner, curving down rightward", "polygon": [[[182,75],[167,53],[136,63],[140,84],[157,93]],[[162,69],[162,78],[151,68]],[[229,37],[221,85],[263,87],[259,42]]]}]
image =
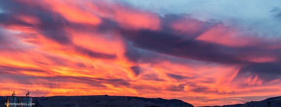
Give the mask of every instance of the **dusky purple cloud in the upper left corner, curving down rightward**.
[{"label": "dusky purple cloud in the upper left corner, curving down rightward", "polygon": [[[63,30],[68,22],[60,14],[39,5],[28,5],[14,0],[1,0],[0,7],[4,11],[0,14],[0,24],[36,27],[38,32],[48,39],[62,44],[71,43],[67,32]],[[20,15],[38,18],[42,23],[25,22],[20,19]]]}]

